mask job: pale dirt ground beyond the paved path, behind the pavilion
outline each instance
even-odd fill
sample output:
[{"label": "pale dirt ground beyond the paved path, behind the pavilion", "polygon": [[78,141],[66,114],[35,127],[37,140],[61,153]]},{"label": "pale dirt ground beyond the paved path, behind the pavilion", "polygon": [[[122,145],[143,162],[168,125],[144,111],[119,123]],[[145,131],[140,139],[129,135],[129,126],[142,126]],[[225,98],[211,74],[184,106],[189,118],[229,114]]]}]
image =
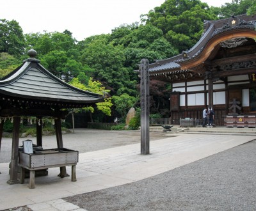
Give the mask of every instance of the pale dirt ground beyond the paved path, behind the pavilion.
[{"label": "pale dirt ground beyond the paved path, behind the pavilion", "polygon": [[[166,138],[164,132],[150,132],[150,141]],[[36,144],[36,137],[19,139],[22,141],[32,140]],[[57,148],[56,136],[43,136],[43,148]],[[104,150],[117,146],[132,145],[140,143],[140,130],[96,130],[75,129],[75,133],[63,134],[63,146],[68,149],[78,150],[79,153]],[[138,149],[140,151],[140,149]],[[10,162],[12,152],[12,138],[3,137],[0,162]]]}]

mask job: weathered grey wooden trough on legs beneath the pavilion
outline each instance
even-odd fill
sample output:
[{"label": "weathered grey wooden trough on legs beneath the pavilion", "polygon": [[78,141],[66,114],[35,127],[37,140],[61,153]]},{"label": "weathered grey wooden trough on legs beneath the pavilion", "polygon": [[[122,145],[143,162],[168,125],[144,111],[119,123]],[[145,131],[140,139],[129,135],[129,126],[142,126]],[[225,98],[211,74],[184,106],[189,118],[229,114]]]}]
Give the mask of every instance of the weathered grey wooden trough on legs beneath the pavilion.
[{"label": "weathered grey wooden trough on legs beneath the pavilion", "polygon": [[20,184],[24,184],[25,169],[29,170],[29,189],[35,188],[35,171],[60,167],[60,177],[65,177],[65,166],[72,166],[71,181],[76,182],[78,151],[66,148],[38,150],[34,153],[19,152]]}]

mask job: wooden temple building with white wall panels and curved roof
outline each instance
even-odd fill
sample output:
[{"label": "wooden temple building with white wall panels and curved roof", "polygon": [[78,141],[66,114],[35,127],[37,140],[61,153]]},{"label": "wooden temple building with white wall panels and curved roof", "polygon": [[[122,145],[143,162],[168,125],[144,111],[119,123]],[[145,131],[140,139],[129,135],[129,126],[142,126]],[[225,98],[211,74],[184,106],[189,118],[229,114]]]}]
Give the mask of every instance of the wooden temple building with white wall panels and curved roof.
[{"label": "wooden temple building with white wall panels and curved roof", "polygon": [[241,125],[256,126],[255,27],[256,16],[205,21],[202,37],[189,51],[150,64],[150,79],[172,84],[173,123],[202,119],[203,109],[212,107],[216,125],[230,114],[249,116],[239,119]]}]

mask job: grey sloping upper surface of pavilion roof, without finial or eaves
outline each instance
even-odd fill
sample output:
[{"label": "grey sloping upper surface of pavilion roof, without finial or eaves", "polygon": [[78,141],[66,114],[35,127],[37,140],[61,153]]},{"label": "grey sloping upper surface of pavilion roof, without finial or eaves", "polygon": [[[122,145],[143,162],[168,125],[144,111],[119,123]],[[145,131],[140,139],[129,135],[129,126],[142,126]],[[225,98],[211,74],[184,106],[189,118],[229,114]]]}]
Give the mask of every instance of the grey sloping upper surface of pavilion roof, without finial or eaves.
[{"label": "grey sloping upper surface of pavilion roof, without finial or eaves", "polygon": [[3,77],[0,81],[0,94],[20,100],[40,100],[66,105],[102,102],[102,95],[70,86],[52,75],[39,62],[35,58],[26,59],[23,65]]}]

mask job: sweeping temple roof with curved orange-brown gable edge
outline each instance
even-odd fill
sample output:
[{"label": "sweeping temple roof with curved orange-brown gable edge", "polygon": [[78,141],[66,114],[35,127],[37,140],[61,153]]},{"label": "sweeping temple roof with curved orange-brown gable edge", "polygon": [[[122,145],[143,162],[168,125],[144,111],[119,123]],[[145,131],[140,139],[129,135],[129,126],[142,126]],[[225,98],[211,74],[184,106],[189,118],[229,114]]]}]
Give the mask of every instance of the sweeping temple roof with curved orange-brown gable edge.
[{"label": "sweeping temple roof with curved orange-brown gable edge", "polygon": [[[256,17],[239,15],[229,19],[204,22],[204,33],[189,51],[172,58],[163,59],[149,66],[149,74],[161,80],[202,77],[207,72],[207,63],[214,59],[221,47],[243,45],[256,36]],[[247,39],[247,40],[246,40]]]}]

